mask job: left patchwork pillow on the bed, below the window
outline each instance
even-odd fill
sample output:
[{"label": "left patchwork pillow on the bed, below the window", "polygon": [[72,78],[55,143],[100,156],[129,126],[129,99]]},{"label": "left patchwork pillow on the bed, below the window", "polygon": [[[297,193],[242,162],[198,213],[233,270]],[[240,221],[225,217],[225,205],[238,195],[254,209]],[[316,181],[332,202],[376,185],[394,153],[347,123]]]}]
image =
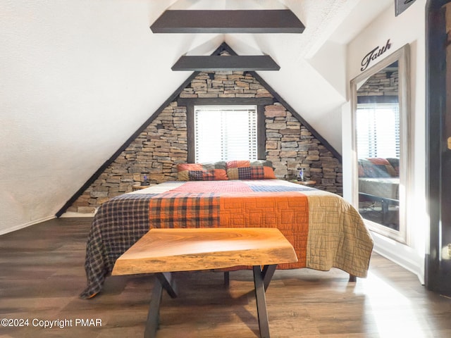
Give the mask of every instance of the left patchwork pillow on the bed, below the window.
[{"label": "left patchwork pillow on the bed, below the window", "polygon": [[180,163],[177,165],[179,181],[228,180],[226,162]]}]

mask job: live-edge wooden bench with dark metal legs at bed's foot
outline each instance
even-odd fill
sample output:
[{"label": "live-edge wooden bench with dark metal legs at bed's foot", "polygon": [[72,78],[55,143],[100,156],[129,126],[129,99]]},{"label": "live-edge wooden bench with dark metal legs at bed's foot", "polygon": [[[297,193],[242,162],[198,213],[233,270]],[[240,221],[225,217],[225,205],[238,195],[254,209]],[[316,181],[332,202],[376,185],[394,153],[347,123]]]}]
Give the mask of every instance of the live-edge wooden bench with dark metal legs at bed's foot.
[{"label": "live-edge wooden bench with dark metal legs at bed's foot", "polygon": [[260,337],[267,338],[265,290],[278,263],[295,262],[295,250],[276,228],[152,229],[118,258],[112,275],[155,273],[144,330],[144,337],[150,338],[158,330],[163,289],[177,296],[171,272],[252,265]]}]

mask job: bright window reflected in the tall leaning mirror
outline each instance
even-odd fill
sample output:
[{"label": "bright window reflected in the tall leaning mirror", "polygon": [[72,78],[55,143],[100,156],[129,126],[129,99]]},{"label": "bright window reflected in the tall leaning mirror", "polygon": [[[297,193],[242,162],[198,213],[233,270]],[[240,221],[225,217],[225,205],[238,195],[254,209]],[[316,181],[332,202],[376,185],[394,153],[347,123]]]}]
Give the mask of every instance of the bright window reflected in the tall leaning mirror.
[{"label": "bright window reflected in the tall leaning mirror", "polygon": [[400,158],[400,108],[397,103],[357,105],[359,158]]}]

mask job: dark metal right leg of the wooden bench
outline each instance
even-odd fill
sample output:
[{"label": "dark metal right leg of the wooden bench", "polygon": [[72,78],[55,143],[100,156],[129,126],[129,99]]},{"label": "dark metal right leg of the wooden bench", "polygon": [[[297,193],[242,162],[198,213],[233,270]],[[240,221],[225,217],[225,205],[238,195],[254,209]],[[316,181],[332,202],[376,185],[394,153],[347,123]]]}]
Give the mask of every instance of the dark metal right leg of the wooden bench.
[{"label": "dark metal right leg of the wooden bench", "polygon": [[254,271],[255,299],[257,301],[257,315],[259,318],[261,338],[269,338],[269,323],[268,311],[266,311],[265,284],[269,285],[271,277],[274,273],[273,270],[276,270],[276,266],[277,265],[266,265],[263,271],[261,270],[260,265],[254,265],[252,267],[252,270]]}]

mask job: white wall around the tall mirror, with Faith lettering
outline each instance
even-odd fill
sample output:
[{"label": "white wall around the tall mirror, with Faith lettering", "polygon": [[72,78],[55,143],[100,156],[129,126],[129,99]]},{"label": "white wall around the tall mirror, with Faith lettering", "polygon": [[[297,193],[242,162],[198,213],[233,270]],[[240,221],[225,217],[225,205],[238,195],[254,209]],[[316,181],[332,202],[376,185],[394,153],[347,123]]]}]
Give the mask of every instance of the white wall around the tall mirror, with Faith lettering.
[{"label": "white wall around the tall mirror, with Faith lettering", "polygon": [[[412,187],[407,205],[407,227],[409,246],[392,241],[373,233],[375,251],[403,265],[419,276],[424,282],[424,256],[428,218],[425,201],[425,5],[426,0],[418,0],[407,11],[395,17],[394,6],[388,8],[368,27],[355,37],[347,46],[347,80],[362,73],[362,58],[376,46],[383,46],[388,39],[391,48],[371,65],[383,60],[397,49],[410,45],[410,118],[413,133]],[[370,66],[371,66],[370,65]],[[352,140],[351,106],[348,101],[342,107],[342,149],[343,180],[345,199],[352,201]]]}]

